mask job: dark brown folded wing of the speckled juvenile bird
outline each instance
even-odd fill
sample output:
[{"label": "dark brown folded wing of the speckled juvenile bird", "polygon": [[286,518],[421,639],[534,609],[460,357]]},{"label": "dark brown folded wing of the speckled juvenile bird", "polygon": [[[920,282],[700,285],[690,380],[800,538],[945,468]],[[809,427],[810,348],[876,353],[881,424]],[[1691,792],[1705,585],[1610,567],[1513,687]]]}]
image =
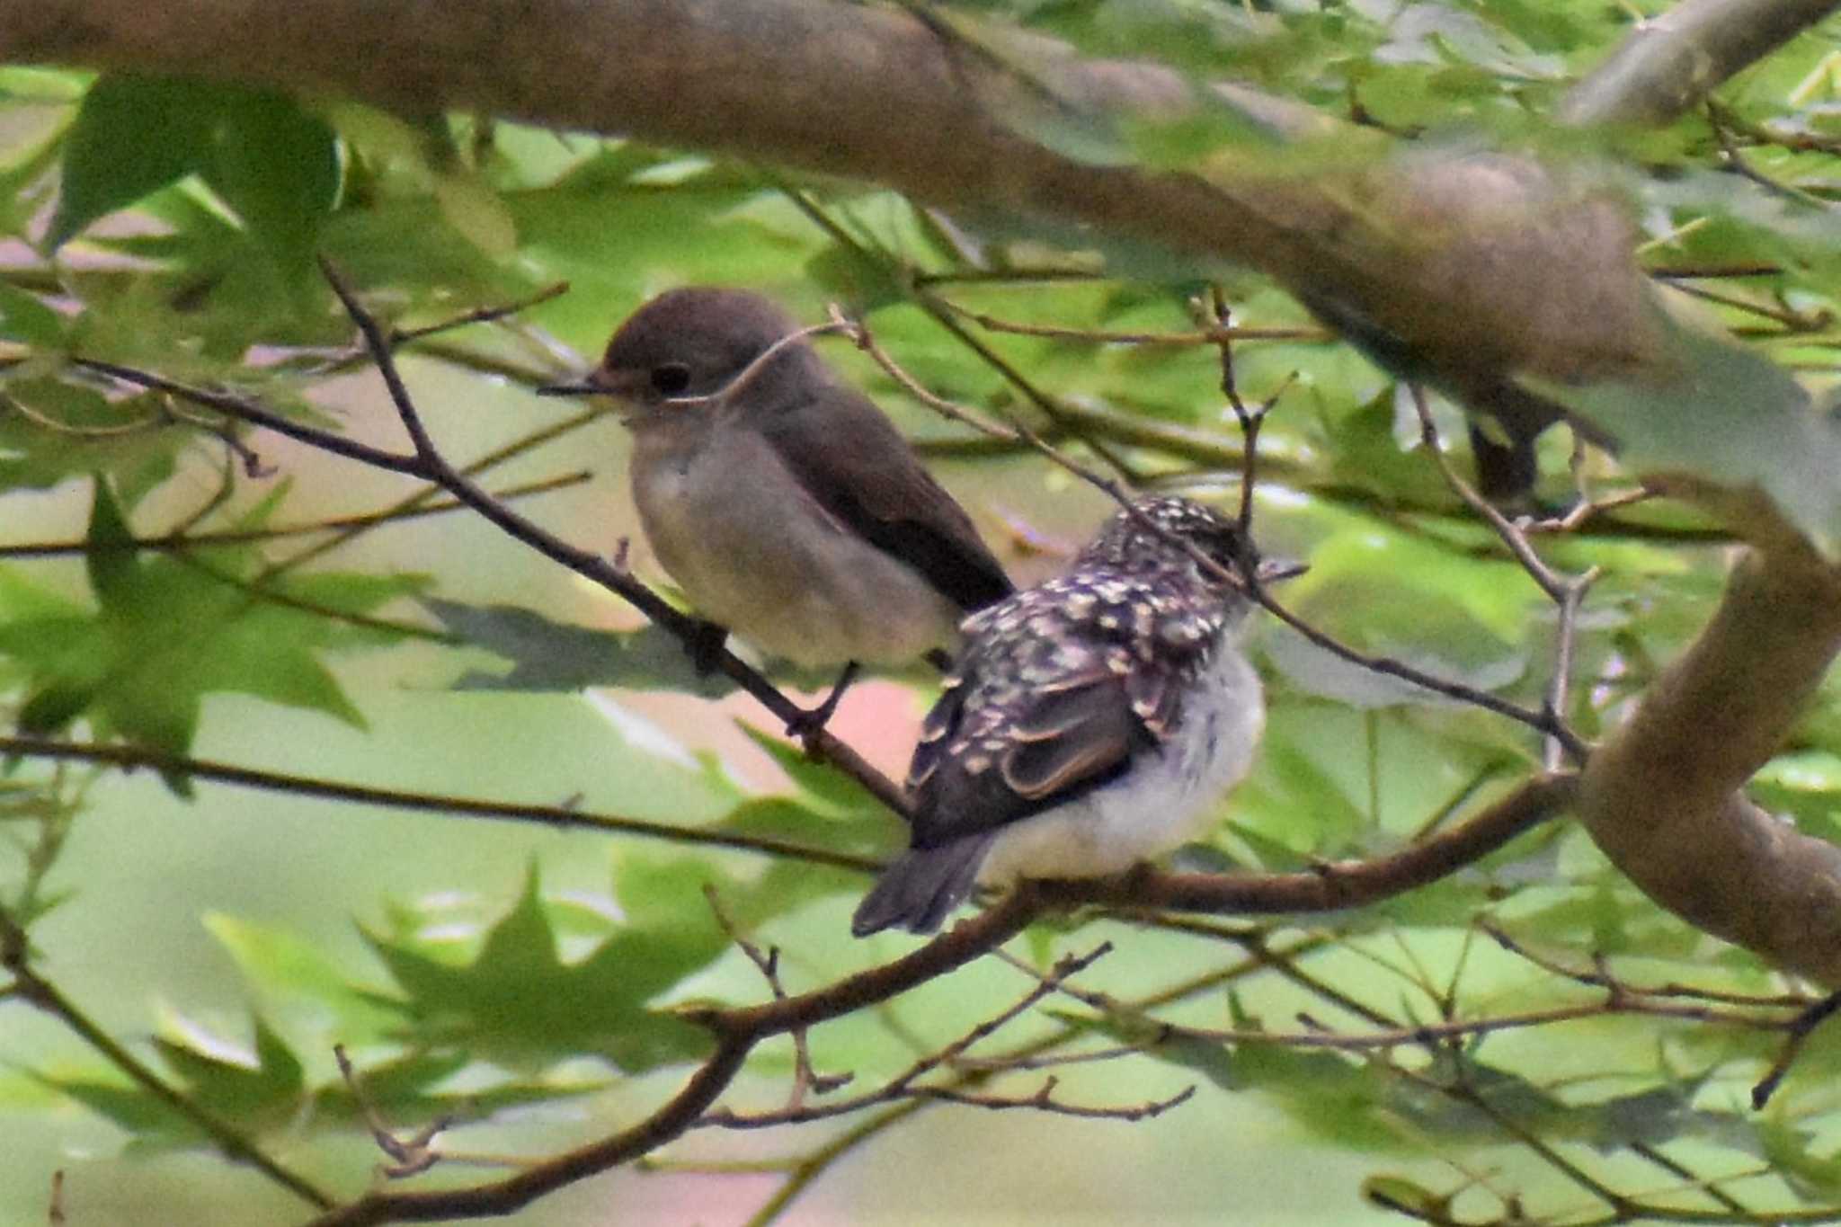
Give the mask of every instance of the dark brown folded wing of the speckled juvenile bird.
[{"label": "dark brown folded wing of the speckled juvenile bird", "polygon": [[[1158,741],[1173,690],[1132,695],[1103,666],[1009,695],[1009,708],[967,710],[976,675],[941,695],[915,747],[908,787],[915,848],[937,848],[1075,800]],[[1154,712],[1156,723],[1147,719]]]}]

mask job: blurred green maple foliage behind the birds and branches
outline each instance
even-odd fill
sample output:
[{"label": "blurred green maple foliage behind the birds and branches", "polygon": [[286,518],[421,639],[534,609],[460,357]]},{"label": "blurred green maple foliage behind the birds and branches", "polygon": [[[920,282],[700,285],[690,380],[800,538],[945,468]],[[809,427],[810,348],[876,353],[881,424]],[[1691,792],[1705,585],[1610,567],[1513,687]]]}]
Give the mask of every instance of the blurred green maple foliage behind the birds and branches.
[{"label": "blurred green maple foliage behind the birds and branches", "polygon": [[[1662,283],[1712,298],[1701,309],[1747,338],[1745,362],[1754,366],[1738,377],[1791,388],[1795,375],[1817,397],[1834,392],[1841,61],[1832,29],[1729,83],[1714,118],[1583,136],[1554,132],[1543,116],[1627,33],[1622,6],[992,0],[961,6],[959,17],[1055,35],[1095,55],[1162,59],[1198,81],[1232,74],[1395,140],[1462,134],[1543,156],[1591,156],[1631,201],[1648,239],[1644,259]],[[1003,120],[1075,156],[1119,164],[1182,169],[1232,155],[1270,166],[1287,156],[1226,103],[1200,120],[1123,131],[1068,125],[1048,112]],[[1732,173],[1723,149],[1734,147],[1753,175]],[[1322,156],[1307,149],[1300,173]],[[392,441],[387,408],[348,379],[365,364],[317,256],[399,329],[569,281],[565,296],[508,320],[405,346],[418,386],[457,379],[471,390],[422,407],[436,440],[455,441],[457,462],[554,421],[536,401],[501,397],[504,386],[578,370],[611,324],[659,289],[722,281],[770,292],[805,320],[819,320],[836,300],[937,394],[1022,414],[1086,462],[1121,456],[1149,484],[1226,500],[1241,440],[1219,392],[1217,350],[968,322],[989,315],[1025,327],[1180,333],[1195,327],[1197,294],[1219,283],[1235,322],[1307,329],[1235,351],[1246,399],[1287,388],[1261,445],[1268,486],[1257,522],[1270,552],[1313,563],[1287,589],[1291,605],[1366,651],[1541,703],[1554,611],[1416,449],[1418,423],[1384,373],[1316,338],[1309,315],[1252,274],[1182,269],[1167,256],[1145,261],[1094,235],[1071,241],[983,224],[874,188],[477,116],[409,121],[274,90],[0,68],[0,508],[13,526],[0,546],[0,695],[11,723],[171,756],[232,747],[272,769],[357,771],[385,787],[558,804],[591,793],[593,806],[613,813],[830,852],[895,846],[898,831],[858,786],[773,738],[733,736],[733,712],[746,710],[736,703],[677,703],[677,723],[665,730],[631,714],[593,721],[591,734],[569,725],[584,712],[585,684],[624,688],[617,712],[635,692],[712,697],[720,688],[696,679],[655,633],[584,625],[619,614],[562,576],[528,579],[532,572],[514,570],[528,561],[504,561],[503,543],[460,526],[460,517],[442,519],[438,532],[407,521],[350,535],[344,524],[295,532],[390,508],[412,487],[363,486],[350,480],[348,462],[313,458],[70,364],[134,364]],[[836,346],[827,357],[952,460],[946,471],[981,526],[994,541],[1000,528],[1011,530],[1005,548],[1018,574],[1049,568],[1059,545],[1095,519],[1097,504],[1066,475],[926,414],[858,353]],[[1044,421],[1035,390],[1064,401],[1070,416]],[[1629,410],[1607,412],[1620,408]],[[1751,465],[1769,476],[1766,469],[1778,471],[1773,456],[1795,447],[1789,440],[1804,421],[1789,416],[1804,412],[1800,405],[1786,403],[1773,403],[1767,421],[1708,421],[1690,410],[1637,421],[1644,454],[1666,453],[1672,464],[1705,464],[1716,475]],[[1456,441],[1460,419],[1443,405],[1438,414]],[[1762,440],[1766,430],[1778,438]],[[562,495],[565,511],[554,522],[604,548],[611,539],[602,521],[624,515],[608,510],[619,502],[608,493],[619,486],[617,447],[611,434],[574,434],[482,480],[549,476],[591,454],[606,471],[600,500]],[[1565,458],[1557,432],[1543,441],[1541,495],[1550,502],[1574,493]],[[1620,478],[1604,458],[1583,476],[1594,491]],[[1841,489],[1821,465],[1799,469],[1793,484],[1817,508],[1830,508]],[[409,545],[379,545],[392,533],[407,533]],[[322,546],[344,557],[322,557]],[[1719,591],[1721,541],[1685,508],[1646,504],[1541,537],[1539,546],[1557,567],[1605,572],[1578,625],[1567,710],[1589,738],[1694,635]],[[1541,747],[1524,728],[1360,673],[1294,635],[1270,631],[1261,649],[1272,705],[1261,765],[1222,808],[1215,843],[1184,854],[1195,865],[1294,868],[1384,852],[1438,815],[1499,795],[1539,762]],[[904,684],[920,694],[880,694],[869,721],[893,727],[891,743],[911,738],[928,697],[924,679]],[[453,721],[433,745],[403,716],[405,688]],[[530,730],[541,732],[519,738]],[[366,738],[388,752],[366,756]],[[1760,776],[1756,797],[1799,828],[1834,837],[1835,763],[1841,692],[1828,684],[1793,745]],[[770,795],[735,782],[749,771],[757,784],[764,773],[775,780]],[[0,907],[29,925],[41,973],[53,982],[75,975],[103,995],[88,1008],[171,1087],[258,1146],[342,1181],[348,1196],[376,1161],[366,1111],[407,1130],[455,1115],[523,1155],[637,1118],[665,1093],[648,1074],[668,1078],[707,1052],[703,1032],[676,1017],[672,1003],[755,1001],[768,992],[716,923],[705,887],[742,933],[784,951],[795,992],[906,949],[895,938],[847,936],[843,918],[867,883],[862,874],[690,844],[661,852],[611,835],[569,844],[562,877],[573,885],[556,887],[558,861],[569,857],[550,835],[482,833],[438,815],[399,819],[374,848],[370,828],[344,828],[335,846],[317,843],[317,822],[276,820],[274,835],[250,839],[272,852],[261,881],[291,883],[274,887],[287,907],[236,914],[215,900],[234,892],[243,870],[214,863],[203,833],[186,846],[188,798],[197,793],[197,813],[234,806],[237,824],[258,830],[267,800],[234,793],[225,802],[217,793],[214,802],[219,786],[182,767],[162,780],[164,789],[129,789],[101,769],[11,762],[0,782],[9,841]],[[210,828],[203,819],[199,826]],[[140,828],[164,833],[136,835]],[[85,843],[87,830],[109,839]],[[173,839],[177,852],[166,846]],[[589,870],[584,846],[595,848]],[[164,865],[166,855],[191,863],[184,890],[171,889],[171,872],[134,877],[120,868],[138,857]],[[342,874],[355,876],[348,883]],[[96,889],[105,879],[110,892]],[[407,892],[396,892],[398,881]],[[342,929],[348,912],[359,912],[361,938]],[[166,916],[203,947],[180,962],[221,949],[234,979],[219,966],[210,992],[199,990],[208,977],[184,969],[168,982],[166,947],[142,949],[122,916]],[[1513,933],[1534,957],[1482,938],[1478,918]],[[1819,1032],[1769,1107],[1751,1113],[1745,1098],[1778,1038],[1721,1017],[1751,1004],[1743,995],[1782,992],[1778,977],[1661,912],[1574,831],[1530,835],[1359,914],[1221,920],[1200,935],[1092,920],[1040,925],[1018,949],[1046,968],[1086,949],[1101,929],[1123,949],[1081,984],[1105,992],[1117,1010],[1099,1017],[1062,1001],[978,1052],[1079,1052],[1123,1041],[1145,1052],[1084,1072],[1068,1067],[1057,1098],[1130,1106],[1191,1082],[1202,1089],[1152,1122],[1081,1133],[1070,1152],[1081,1166],[1106,1168],[1123,1146],[1119,1133],[1134,1130],[1152,1139],[1136,1144],[1169,1153],[1186,1153],[1186,1137],[1206,1137],[1257,1155],[1278,1137],[1353,1164],[1338,1168],[1355,1172],[1340,1188],[1261,1183],[1259,1168],[1228,1161],[1219,1174],[1191,1175],[1204,1181],[1204,1205],[1224,1207],[1232,1196],[1235,1221],[1261,1223],[1313,1221],[1305,1205],[1340,1207],[1338,1221],[1364,1212],[1605,1221],[1592,1218],[1604,1207],[1550,1153],[1598,1164],[1596,1179],[1622,1196],[1731,1212],[1734,1221],[1769,1221],[1773,1210],[1841,1198],[1832,1159],[1841,1104],[1828,1089],[1841,1045]],[[328,944],[333,931],[344,936]],[[1256,1034],[1589,1006],[1605,997],[1589,980],[1602,973],[1594,958],[1633,984],[1692,984],[1740,995],[1738,1004],[1701,999],[1714,1001],[1707,1017],[1587,1010],[1565,1023],[1359,1052],[1261,1043]],[[96,969],[83,971],[85,960]],[[1580,979],[1556,975],[1556,966]],[[878,1085],[1025,988],[1014,975],[968,968],[816,1030],[812,1061],[819,1072],[852,1072],[852,1089]],[[208,997],[197,1008],[186,999],[193,990]],[[0,1019],[26,1012],[18,995],[0,997]],[[1158,1043],[1162,1021],[1246,1036]],[[33,1130],[68,1130],[70,1106],[81,1106],[114,1128],[105,1153],[144,1155],[72,1163],[72,1181],[105,1170],[107,1181],[133,1190],[156,1183],[149,1172],[158,1161],[145,1153],[204,1148],[195,1122],[74,1034],[18,1036],[0,1039],[9,1069],[0,1074],[0,1107]],[[335,1043],[361,1069],[363,1104],[330,1060]],[[792,1071],[788,1047],[764,1047],[736,1100],[779,1104]],[[1029,1095],[1038,1078],[1009,1074],[992,1085]],[[591,1126],[571,1117],[576,1111]],[[545,1124],[525,1128],[532,1118]],[[1031,1148],[1051,1148],[1040,1139],[1062,1124],[1002,1113],[968,1128],[1002,1135],[990,1148],[1014,1148],[1024,1163],[1042,1153]],[[784,1133],[777,1153],[819,1144]],[[457,1146],[468,1135],[457,1131]],[[70,1144],[96,1146],[85,1137]],[[727,1141],[703,1131],[683,1144],[683,1157],[727,1157]],[[924,1163],[935,1177],[906,1187],[900,1209],[869,1212],[865,1201],[852,1205],[854,1221],[968,1210],[987,1221],[1025,1220],[1036,1205],[1031,1194],[955,1177],[983,1148],[952,1141],[933,1137]],[[33,1155],[0,1166],[39,1159],[50,1163]],[[1116,1199],[1086,1209],[1110,1220],[1154,1218],[1145,1207],[1160,1205],[1167,1172],[1158,1172],[1149,1159],[1143,1179],[1112,1172]],[[223,1190],[260,1179],[228,1163],[190,1174],[221,1185],[197,1192],[199,1205],[228,1205],[234,1194]],[[1747,1179],[1714,1196],[1696,1187],[1736,1174]],[[425,1179],[466,1174],[440,1168]],[[849,1188],[852,1177],[836,1179]],[[869,1166],[856,1179],[895,1177]],[[48,1168],[4,1172],[9,1220],[42,1218],[48,1181]],[[284,1209],[263,1205],[304,1212],[285,1199]],[[569,1214],[539,1207],[528,1221],[578,1221]],[[1204,1218],[1221,1221],[1206,1210],[1197,1221]]]}]

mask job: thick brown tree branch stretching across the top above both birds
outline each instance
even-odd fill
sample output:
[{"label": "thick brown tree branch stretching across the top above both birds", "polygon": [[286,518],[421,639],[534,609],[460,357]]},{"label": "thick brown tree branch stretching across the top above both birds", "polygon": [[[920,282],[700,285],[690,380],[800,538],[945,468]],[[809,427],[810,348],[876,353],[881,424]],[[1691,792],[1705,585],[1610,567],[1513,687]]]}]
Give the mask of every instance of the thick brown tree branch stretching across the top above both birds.
[{"label": "thick brown tree branch stretching across the top above both birds", "polygon": [[[1002,31],[979,39],[830,0],[0,7],[0,48],[15,61],[295,85],[414,114],[477,109],[746,153],[1230,259],[1337,302],[1456,384],[1504,370],[1589,379],[1653,353],[1622,210],[1534,162],[1443,151],[1395,162],[1373,132],[1307,109],[1274,116],[1272,99],[1233,86],[1204,99],[1156,64],[1084,61]],[[1029,136],[1044,107],[1106,142],[1121,140],[1121,112],[1176,120],[1222,99],[1274,131],[1337,142],[1355,169],[1305,180],[1276,171],[1261,149],[1256,160],[1224,155],[1204,178],[1081,162]]]}]

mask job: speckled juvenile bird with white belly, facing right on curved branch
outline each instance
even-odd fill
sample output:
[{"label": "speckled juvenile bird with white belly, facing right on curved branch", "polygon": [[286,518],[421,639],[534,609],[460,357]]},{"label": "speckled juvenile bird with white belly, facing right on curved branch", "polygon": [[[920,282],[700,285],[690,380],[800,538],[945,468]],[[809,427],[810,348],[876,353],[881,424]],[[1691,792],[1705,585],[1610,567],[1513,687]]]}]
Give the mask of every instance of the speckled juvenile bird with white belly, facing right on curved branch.
[{"label": "speckled juvenile bird with white belly, facing right on curved branch", "polygon": [[1187,499],[1136,511],[1062,576],[967,618],[908,773],[911,850],[856,909],[856,936],[930,933],[979,881],[1125,872],[1195,837],[1252,767],[1252,602],[1178,545],[1232,576],[1241,533]]}]

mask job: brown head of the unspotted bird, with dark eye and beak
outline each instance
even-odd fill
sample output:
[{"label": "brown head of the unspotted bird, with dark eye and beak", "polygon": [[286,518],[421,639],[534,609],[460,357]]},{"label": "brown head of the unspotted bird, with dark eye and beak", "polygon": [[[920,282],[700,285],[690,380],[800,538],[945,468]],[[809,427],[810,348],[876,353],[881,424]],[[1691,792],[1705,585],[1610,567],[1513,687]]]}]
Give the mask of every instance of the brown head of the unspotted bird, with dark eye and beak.
[{"label": "brown head of the unspotted bird, with dark eye and beak", "polygon": [[[788,390],[827,379],[805,338],[788,340],[797,331],[799,324],[760,294],[709,285],[674,289],[620,324],[585,381],[545,392],[615,396],[637,410],[637,419],[716,399],[768,407]],[[760,361],[770,350],[771,357]]]}]

